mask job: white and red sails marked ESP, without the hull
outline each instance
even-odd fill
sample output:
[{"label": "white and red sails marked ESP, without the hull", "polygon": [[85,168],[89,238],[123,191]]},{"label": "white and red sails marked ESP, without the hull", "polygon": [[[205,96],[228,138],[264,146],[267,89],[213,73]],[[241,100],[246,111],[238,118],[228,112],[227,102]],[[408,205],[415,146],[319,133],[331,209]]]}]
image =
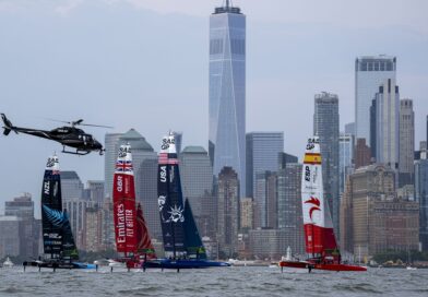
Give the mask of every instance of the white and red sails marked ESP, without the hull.
[{"label": "white and red sails marked ESP, without the hull", "polygon": [[308,140],[301,177],[301,205],[304,212],[306,252],[312,257],[340,258],[329,203],[324,200],[320,142]]}]

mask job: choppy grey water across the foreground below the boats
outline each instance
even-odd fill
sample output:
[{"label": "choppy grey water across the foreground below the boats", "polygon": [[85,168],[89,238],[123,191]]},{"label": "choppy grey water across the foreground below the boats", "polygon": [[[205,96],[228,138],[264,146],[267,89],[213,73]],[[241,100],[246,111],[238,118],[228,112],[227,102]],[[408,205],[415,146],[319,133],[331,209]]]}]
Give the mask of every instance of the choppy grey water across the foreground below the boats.
[{"label": "choppy grey water across the foreground below the boats", "polygon": [[428,296],[428,270],[281,273],[222,268],[130,273],[0,269],[0,296]]}]

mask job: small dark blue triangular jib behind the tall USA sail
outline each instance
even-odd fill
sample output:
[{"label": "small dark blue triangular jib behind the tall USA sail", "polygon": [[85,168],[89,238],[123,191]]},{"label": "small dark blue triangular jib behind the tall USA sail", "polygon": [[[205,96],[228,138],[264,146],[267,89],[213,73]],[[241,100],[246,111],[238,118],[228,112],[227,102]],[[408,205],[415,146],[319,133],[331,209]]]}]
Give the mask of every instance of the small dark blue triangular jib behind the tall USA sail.
[{"label": "small dark blue triangular jib behind the tall USA sail", "polygon": [[201,240],[190,202],[186,199],[185,202],[185,235],[187,256],[195,259],[206,259],[206,251]]}]

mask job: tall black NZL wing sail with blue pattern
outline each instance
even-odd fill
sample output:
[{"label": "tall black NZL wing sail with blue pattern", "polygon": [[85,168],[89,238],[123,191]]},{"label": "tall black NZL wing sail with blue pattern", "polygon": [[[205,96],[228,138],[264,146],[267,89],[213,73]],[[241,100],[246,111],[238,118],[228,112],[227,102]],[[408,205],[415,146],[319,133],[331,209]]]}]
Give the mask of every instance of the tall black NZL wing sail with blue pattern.
[{"label": "tall black NZL wing sail with blue pattern", "polygon": [[48,158],[41,186],[41,225],[45,254],[52,259],[62,256],[63,214],[61,178],[57,156]]}]

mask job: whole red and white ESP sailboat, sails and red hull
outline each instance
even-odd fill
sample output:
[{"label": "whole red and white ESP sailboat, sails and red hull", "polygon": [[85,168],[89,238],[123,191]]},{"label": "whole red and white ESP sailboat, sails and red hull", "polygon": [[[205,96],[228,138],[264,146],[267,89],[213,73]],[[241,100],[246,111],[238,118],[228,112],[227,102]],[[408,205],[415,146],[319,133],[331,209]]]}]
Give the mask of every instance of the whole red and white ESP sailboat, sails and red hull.
[{"label": "whole red and white ESP sailboat, sails and red hull", "polygon": [[281,269],[307,269],[309,272],[311,270],[366,271],[366,268],[341,262],[341,251],[334,236],[329,204],[323,194],[318,136],[309,139],[306,146],[301,177],[301,205],[306,252],[309,257],[306,261],[287,258],[278,263]]}]

